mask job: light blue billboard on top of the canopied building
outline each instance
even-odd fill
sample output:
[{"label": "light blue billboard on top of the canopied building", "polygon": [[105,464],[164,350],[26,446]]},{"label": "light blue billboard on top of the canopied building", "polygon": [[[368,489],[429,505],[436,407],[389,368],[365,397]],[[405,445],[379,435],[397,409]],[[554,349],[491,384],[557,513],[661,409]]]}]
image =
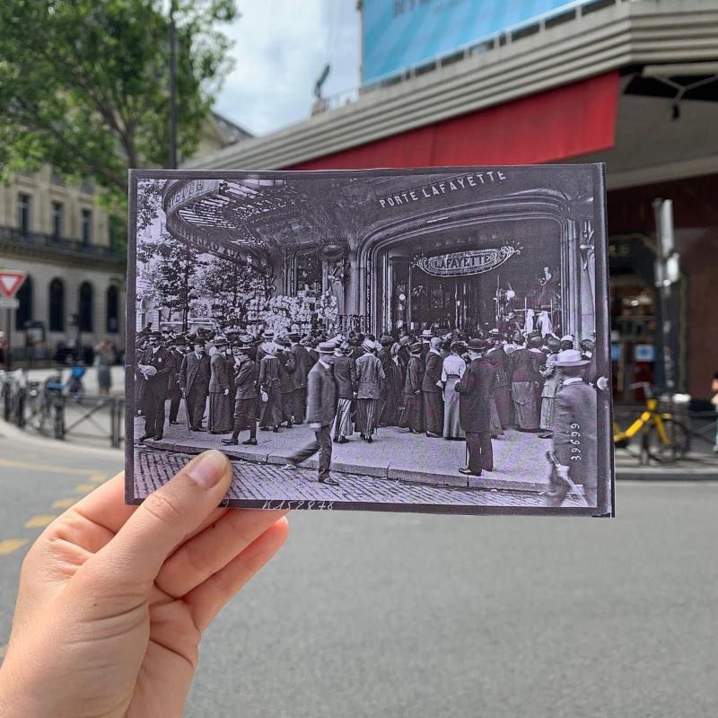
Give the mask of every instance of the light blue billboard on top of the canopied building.
[{"label": "light blue billboard on top of the canopied building", "polygon": [[363,0],[362,79],[451,55],[576,0]]}]

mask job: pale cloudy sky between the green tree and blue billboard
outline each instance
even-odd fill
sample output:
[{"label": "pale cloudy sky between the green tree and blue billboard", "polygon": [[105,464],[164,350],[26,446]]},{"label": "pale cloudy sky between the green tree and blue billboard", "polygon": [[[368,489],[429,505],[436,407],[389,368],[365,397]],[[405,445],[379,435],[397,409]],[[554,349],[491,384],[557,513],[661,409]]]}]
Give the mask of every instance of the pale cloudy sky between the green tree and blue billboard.
[{"label": "pale cloudy sky between the green tree and blue billboard", "polygon": [[359,84],[360,19],[355,0],[241,0],[227,34],[236,66],[215,109],[264,135],[309,117],[325,63],[330,96]]}]

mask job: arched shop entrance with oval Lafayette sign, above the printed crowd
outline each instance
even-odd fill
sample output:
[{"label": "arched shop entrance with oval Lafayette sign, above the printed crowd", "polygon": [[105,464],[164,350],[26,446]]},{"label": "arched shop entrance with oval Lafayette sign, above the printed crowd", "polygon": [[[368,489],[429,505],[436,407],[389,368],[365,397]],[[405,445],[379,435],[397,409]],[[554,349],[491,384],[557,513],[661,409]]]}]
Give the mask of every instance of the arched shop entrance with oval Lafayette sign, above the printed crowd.
[{"label": "arched shop entrance with oval Lafayette sign, above the printed crowd", "polygon": [[495,221],[397,241],[378,263],[384,330],[531,329],[541,311],[553,330],[564,323],[560,230],[551,220]]}]

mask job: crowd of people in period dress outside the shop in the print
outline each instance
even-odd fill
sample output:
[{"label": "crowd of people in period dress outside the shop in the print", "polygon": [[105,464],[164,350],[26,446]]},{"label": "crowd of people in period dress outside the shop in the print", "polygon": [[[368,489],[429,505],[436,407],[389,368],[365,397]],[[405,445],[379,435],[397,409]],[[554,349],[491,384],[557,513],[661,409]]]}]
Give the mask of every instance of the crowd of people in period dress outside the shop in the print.
[{"label": "crowd of people in period dress outside the shop in the print", "polygon": [[402,330],[378,338],[276,337],[269,330],[257,337],[207,330],[175,336],[147,328],[136,337],[139,442],[162,439],[166,418],[180,425],[182,399],[188,431],[222,434],[226,445],[240,443],[244,431],[241,443],[256,445],[258,430],[277,433],[308,422],[316,441],[285,468],[319,451],[320,481],[336,483],[332,442],[358,434],[372,443],[380,426],[466,441],[468,463],[458,470],[469,476],[494,469],[492,441],[503,433],[538,433],[553,440],[548,454],[558,505],[569,472],[587,497],[595,494],[600,381],[593,348],[590,338],[577,345],[570,335],[497,328]]}]

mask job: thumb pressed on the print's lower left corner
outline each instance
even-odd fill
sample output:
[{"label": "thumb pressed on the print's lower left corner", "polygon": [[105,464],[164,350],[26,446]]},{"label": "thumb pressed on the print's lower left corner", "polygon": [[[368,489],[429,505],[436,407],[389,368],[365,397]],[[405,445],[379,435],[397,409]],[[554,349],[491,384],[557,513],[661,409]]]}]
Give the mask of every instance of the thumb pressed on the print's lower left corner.
[{"label": "thumb pressed on the print's lower left corner", "polygon": [[128,588],[151,585],[171,553],[222,503],[231,484],[227,457],[205,451],[147,496],[95,559]]}]

